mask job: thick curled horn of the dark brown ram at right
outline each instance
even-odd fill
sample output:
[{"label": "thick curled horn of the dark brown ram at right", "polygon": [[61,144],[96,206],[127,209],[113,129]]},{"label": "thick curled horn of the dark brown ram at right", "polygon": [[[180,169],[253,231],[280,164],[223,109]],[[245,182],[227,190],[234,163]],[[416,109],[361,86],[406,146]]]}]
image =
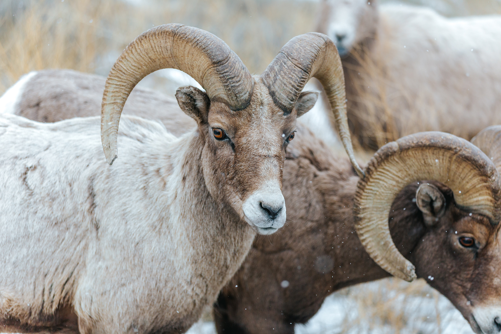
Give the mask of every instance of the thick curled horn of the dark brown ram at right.
[{"label": "thick curled horn of the dark brown ram at right", "polygon": [[409,183],[436,180],[448,186],[456,205],[499,221],[499,176],[476,146],[443,132],[421,132],[381,147],[358,181],[355,227],[371,258],[390,274],[412,281],[414,265],[395,247],[388,226],[393,200]]}]

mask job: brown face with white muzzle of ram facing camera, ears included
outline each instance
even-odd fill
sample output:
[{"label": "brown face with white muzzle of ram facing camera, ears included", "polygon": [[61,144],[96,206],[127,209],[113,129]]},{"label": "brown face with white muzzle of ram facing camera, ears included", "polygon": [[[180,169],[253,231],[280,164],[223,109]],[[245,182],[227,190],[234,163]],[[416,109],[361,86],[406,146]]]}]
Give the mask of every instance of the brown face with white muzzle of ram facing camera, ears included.
[{"label": "brown face with white muzzle of ram facing camera, ears included", "polygon": [[211,102],[194,87],[178,89],[176,98],[181,109],[198,122],[204,143],[202,172],[212,197],[261,234],[282,227],[286,219],[282,167],[296,130],[297,110],[284,115],[260,82],[255,84],[250,104],[240,111]]}]

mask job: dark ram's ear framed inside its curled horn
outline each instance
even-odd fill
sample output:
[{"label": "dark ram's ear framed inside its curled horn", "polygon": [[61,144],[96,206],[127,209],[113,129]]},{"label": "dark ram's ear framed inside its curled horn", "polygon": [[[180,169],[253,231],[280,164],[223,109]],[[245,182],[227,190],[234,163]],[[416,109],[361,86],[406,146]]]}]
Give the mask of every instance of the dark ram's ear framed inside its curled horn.
[{"label": "dark ram's ear framed inside its curled horn", "polygon": [[445,197],[434,185],[423,183],[416,191],[416,204],[423,213],[424,224],[435,225],[445,213]]}]

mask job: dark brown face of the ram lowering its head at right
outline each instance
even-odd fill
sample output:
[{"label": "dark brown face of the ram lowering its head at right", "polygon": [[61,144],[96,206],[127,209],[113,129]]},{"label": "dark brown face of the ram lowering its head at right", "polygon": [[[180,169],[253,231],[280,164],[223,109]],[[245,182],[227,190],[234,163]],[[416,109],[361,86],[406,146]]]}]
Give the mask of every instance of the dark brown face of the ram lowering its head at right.
[{"label": "dark brown face of the ram lowering its head at right", "polygon": [[[427,199],[420,203],[418,190],[417,208],[416,204],[401,202],[407,206],[406,214],[420,210],[423,216],[423,230],[418,232],[422,235],[410,254],[416,273],[449,298],[473,330],[498,332],[501,328],[499,225],[492,226],[486,217],[460,210],[449,188],[438,182],[426,183],[438,194],[431,196],[432,201],[427,202],[430,196],[424,195]],[[399,209],[400,213],[406,211]],[[398,214],[393,220],[399,220]],[[407,230],[416,232],[416,225]]]}]

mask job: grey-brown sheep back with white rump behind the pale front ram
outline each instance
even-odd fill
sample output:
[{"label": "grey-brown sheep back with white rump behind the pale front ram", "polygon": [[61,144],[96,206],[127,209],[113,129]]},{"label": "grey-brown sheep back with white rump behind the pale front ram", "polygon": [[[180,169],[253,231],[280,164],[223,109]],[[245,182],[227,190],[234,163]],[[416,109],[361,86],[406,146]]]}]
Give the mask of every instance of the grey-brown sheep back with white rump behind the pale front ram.
[{"label": "grey-brown sheep back with white rump behind the pale front ram", "polygon": [[[105,83],[105,77],[73,70],[30,72],[0,97],[0,114],[49,123],[98,116]],[[176,111],[175,117],[170,115],[171,110]],[[161,121],[175,136],[196,126],[174,98],[140,87],[132,90],[122,113]]]}]

